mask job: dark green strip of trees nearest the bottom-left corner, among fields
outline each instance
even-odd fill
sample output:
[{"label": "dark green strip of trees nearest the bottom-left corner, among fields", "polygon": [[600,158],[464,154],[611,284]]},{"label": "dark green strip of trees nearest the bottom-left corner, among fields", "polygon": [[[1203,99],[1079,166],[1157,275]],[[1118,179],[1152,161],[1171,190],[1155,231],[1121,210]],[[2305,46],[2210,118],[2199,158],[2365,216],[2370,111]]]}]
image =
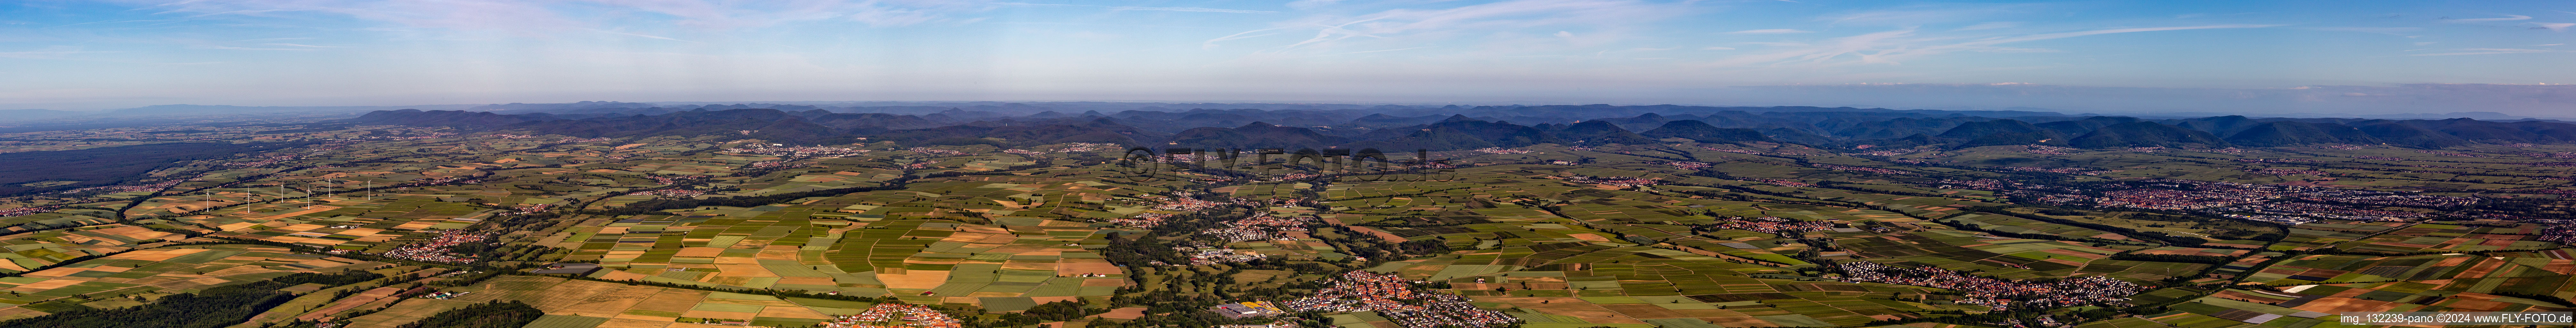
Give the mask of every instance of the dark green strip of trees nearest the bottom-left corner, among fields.
[{"label": "dark green strip of trees nearest the bottom-left corner, among fields", "polygon": [[286,300],[296,300],[294,292],[281,292],[286,287],[337,287],[381,276],[384,274],[368,271],[289,274],[265,282],[211,287],[193,294],[170,294],[134,307],[75,307],[41,318],[0,320],[0,328],[224,328],[250,320],[250,315],[268,313],[268,307],[286,305]]}]

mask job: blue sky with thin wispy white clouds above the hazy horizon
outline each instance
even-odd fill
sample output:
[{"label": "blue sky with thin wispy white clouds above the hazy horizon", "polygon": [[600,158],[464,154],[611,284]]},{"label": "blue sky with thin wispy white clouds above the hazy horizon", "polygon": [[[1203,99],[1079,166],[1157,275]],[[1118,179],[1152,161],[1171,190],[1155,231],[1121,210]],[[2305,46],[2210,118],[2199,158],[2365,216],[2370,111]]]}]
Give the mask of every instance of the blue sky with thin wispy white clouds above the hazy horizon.
[{"label": "blue sky with thin wispy white clouds above the hazy horizon", "polygon": [[2576,116],[2566,0],[8,0],[0,108],[1337,101]]}]

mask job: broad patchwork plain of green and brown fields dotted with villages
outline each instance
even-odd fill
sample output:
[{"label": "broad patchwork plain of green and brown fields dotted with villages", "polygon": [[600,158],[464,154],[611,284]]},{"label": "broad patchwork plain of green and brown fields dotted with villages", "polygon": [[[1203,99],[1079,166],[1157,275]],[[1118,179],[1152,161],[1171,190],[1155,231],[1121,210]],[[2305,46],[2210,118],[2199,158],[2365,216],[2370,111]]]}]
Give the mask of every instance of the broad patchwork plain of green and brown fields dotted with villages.
[{"label": "broad patchwork plain of green and brown fields dotted with villages", "polygon": [[[348,127],[15,199],[49,209],[0,217],[0,320],[270,284],[227,320],[2313,328],[2576,297],[2571,230],[2545,222],[2566,181],[2486,147],[1528,145],[1370,168],[734,132]],[[2455,173],[2488,165],[2532,176]]]}]

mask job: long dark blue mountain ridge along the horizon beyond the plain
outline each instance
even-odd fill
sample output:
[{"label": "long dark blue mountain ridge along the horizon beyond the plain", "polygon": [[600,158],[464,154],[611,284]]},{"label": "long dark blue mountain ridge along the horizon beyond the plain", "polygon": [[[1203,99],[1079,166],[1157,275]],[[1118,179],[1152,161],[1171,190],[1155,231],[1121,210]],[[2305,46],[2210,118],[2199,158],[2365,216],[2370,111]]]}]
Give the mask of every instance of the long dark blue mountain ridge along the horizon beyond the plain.
[{"label": "long dark blue mountain ridge along the horizon beyond the plain", "polygon": [[[1476,150],[1525,145],[1801,142],[1824,147],[1986,145],[2061,147],[2280,147],[2470,142],[2576,142],[2576,124],[2481,119],[2133,119],[1968,116],[1893,108],[1739,106],[1373,106],[1373,108],[1123,108],[1054,111],[1028,103],[848,114],[840,106],[631,108],[641,103],[502,103],[495,111],[371,111],[358,124],[459,127],[574,137],[739,134],[778,142],[896,139],[917,145],[1121,142],[1157,147],[1376,147]],[[750,103],[739,103],[750,106]],[[544,111],[538,111],[544,108]],[[502,114],[520,111],[520,114]],[[564,111],[564,114],[549,114]],[[1025,114],[1005,114],[1025,111]],[[1425,114],[1450,111],[1450,114]],[[1757,114],[1759,111],[1759,114]],[[2045,114],[2045,111],[1981,111]],[[1538,121],[1538,124],[1515,124]],[[1723,124],[1718,124],[1723,121]],[[1643,132],[1641,132],[1643,129]]]}]

